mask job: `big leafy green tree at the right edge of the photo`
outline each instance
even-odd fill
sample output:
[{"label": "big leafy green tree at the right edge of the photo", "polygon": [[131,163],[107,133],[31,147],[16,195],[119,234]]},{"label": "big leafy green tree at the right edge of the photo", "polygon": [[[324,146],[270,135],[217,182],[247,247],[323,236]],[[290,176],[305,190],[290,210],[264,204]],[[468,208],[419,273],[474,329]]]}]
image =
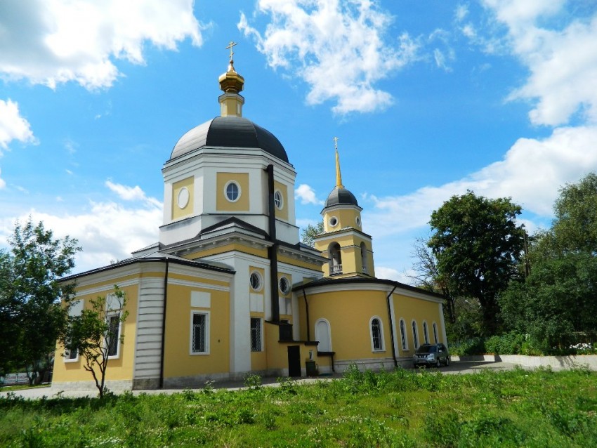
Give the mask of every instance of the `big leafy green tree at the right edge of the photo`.
[{"label": "big leafy green tree at the right edge of the photo", "polygon": [[543,350],[597,336],[597,176],[565,185],[553,206],[551,229],[537,232],[525,282],[500,298],[511,328]]}]

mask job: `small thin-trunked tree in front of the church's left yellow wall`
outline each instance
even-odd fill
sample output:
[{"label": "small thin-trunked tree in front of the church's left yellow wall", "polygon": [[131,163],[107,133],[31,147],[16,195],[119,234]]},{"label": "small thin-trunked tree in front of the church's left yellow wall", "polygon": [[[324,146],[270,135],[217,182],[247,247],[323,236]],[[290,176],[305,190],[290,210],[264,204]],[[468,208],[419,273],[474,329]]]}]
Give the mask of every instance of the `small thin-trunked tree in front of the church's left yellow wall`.
[{"label": "small thin-trunked tree in front of the church's left yellow wall", "polygon": [[103,398],[106,373],[111,356],[124,343],[122,324],[129,316],[126,294],[114,285],[114,293],[89,300],[80,315],[69,318],[68,326],[59,341],[68,350],[77,350],[84,360],[84,369],[91,373],[100,398]]}]

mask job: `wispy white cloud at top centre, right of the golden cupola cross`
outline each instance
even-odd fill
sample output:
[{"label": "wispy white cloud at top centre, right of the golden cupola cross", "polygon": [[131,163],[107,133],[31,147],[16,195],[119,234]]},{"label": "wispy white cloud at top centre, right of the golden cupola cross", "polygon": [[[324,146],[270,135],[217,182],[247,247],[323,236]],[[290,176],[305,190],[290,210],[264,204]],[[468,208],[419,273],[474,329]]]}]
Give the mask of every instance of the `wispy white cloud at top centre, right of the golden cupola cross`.
[{"label": "wispy white cloud at top centre, right of the golden cupola cross", "polygon": [[257,8],[272,19],[265,31],[244,14],[239,29],[254,37],[270,67],[291,70],[309,84],[308,104],[333,100],[338,114],[391,105],[376,82],[417,58],[418,44],[408,34],[386,38],[392,17],[372,1],[260,0]]}]

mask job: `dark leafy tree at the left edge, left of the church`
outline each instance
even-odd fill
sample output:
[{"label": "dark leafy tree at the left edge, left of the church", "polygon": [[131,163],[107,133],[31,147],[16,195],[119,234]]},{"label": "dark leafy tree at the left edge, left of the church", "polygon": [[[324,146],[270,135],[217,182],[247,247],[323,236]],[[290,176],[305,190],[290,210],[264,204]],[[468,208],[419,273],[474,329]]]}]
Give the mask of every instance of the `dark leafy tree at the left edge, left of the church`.
[{"label": "dark leafy tree at the left edge, left of the church", "polygon": [[65,285],[60,277],[74,268],[74,255],[81,248],[76,239],[55,239],[44,223],[34,224],[30,217],[25,225],[15,224],[8,244],[10,251],[0,256],[0,327],[11,334],[11,341],[0,350],[0,365],[25,367],[33,383],[37,373],[48,368],[65,328],[67,310],[60,298],[70,296],[74,284]]}]

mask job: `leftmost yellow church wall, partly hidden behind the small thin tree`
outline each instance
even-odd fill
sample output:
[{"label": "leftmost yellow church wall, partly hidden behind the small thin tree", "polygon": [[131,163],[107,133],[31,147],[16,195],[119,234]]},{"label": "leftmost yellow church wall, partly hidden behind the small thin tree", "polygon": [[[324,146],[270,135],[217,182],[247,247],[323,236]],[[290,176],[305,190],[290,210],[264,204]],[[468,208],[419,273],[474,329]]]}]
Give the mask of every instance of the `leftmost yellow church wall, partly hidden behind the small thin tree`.
[{"label": "leftmost yellow church wall, partly hidden behind the small thin tree", "polygon": [[[119,282],[123,282],[122,279],[118,281],[112,280],[111,282],[103,282],[86,286],[85,289],[98,288],[106,283],[113,286]],[[114,291],[113,288],[107,289],[105,292],[102,291],[96,294],[84,294],[77,295],[77,300],[84,301],[84,308],[91,308],[89,299],[96,298],[97,296],[106,296]],[[122,291],[126,294],[126,310],[129,311],[129,316],[126,317],[126,321],[122,324],[121,331],[124,336],[124,343],[119,347],[119,357],[117,359],[108,360],[107,372],[105,379],[107,381],[112,380],[131,380],[133,378],[133,360],[135,350],[135,334],[137,327],[137,306],[139,289],[138,284],[130,286],[123,286]],[[65,381],[93,381],[93,376],[84,369],[84,360],[81,356],[77,361],[65,361],[63,357],[64,347],[60,344],[56,345],[56,356],[54,360],[54,372],[53,379],[54,383],[62,383]]]}]

